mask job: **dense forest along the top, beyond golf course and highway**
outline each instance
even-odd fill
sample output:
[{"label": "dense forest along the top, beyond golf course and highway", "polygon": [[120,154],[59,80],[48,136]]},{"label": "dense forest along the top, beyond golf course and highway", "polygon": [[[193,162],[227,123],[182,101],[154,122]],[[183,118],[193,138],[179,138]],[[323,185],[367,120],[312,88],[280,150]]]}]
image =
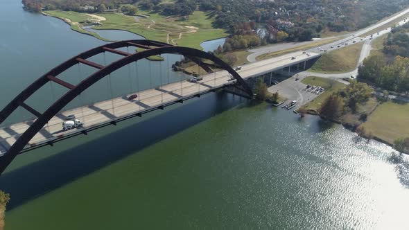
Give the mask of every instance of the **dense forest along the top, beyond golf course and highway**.
[{"label": "dense forest along the top, beyond golf course and highway", "polygon": [[[98,12],[119,10],[133,4],[166,16],[189,16],[195,10],[211,12],[215,28],[232,35],[259,34],[266,42],[305,41],[319,37],[324,30],[343,31],[363,28],[402,10],[409,0],[23,0],[26,10],[73,10]],[[129,13],[134,13],[131,10]],[[263,25],[259,30],[246,24]],[[257,43],[261,43],[257,42]],[[232,43],[233,44],[233,43]],[[237,43],[236,43],[237,44]],[[242,45],[243,46],[243,45]],[[227,47],[228,48],[228,47]],[[233,45],[234,48],[234,45]]]}]

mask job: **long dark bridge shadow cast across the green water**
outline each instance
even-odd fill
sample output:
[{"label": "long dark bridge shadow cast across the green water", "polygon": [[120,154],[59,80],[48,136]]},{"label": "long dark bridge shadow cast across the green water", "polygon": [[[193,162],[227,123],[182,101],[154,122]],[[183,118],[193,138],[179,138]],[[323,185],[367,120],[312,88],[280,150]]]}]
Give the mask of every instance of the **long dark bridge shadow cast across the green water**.
[{"label": "long dark bridge shadow cast across the green water", "polygon": [[224,92],[207,94],[200,100],[191,100],[168,111],[165,109],[164,113],[146,121],[125,126],[99,139],[6,172],[0,177],[0,188],[11,195],[8,210],[246,101],[245,98]]}]

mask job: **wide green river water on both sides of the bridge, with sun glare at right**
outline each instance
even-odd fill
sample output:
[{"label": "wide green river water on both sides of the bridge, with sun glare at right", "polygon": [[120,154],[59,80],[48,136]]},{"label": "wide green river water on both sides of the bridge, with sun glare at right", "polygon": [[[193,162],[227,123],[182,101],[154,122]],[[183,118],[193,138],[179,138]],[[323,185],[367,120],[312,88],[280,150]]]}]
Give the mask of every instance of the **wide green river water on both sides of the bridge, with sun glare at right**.
[{"label": "wide green river water on both sides of the bridge, with sun glare at right", "polygon": [[[1,107],[103,44],[19,1],[0,6]],[[220,92],[22,154],[0,189],[11,194],[7,230],[407,229],[409,159],[393,151]]]}]

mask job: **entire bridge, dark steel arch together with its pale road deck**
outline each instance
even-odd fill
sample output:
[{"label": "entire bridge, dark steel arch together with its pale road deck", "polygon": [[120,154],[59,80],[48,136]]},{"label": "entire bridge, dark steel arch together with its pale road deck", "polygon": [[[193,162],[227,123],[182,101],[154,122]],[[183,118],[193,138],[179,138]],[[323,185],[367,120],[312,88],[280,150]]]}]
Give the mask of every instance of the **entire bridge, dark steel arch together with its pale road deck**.
[{"label": "entire bridge, dark steel arch together with its pale road deck", "polygon": [[[144,51],[137,53],[125,53],[118,48],[134,46],[143,48]],[[123,58],[112,62],[107,66],[94,63],[87,60],[99,53],[110,52],[117,55],[124,56]],[[129,95],[124,95],[118,98],[111,98],[110,100],[103,100],[93,105],[86,105],[69,109],[67,111],[60,111],[73,98],[76,98],[82,91],[93,85],[101,78],[109,75],[116,69],[120,69],[126,64],[137,62],[142,58],[152,55],[160,55],[162,53],[177,53],[187,57],[198,63],[200,67],[207,70],[208,73],[203,76],[199,82],[189,82],[186,80],[180,82],[173,82],[167,85],[160,85],[153,89],[146,89],[137,91],[138,97],[134,100],[128,99]],[[87,132],[96,130],[107,125],[116,125],[117,122],[124,121],[135,116],[142,116],[148,112],[156,109],[164,109],[168,105],[175,103],[183,103],[184,100],[199,97],[202,94],[215,91],[216,89],[223,89],[225,87],[234,87],[252,98],[251,88],[247,82],[251,78],[259,76],[269,76],[270,81],[272,72],[283,69],[290,71],[291,67],[305,69],[308,60],[314,60],[320,57],[318,53],[288,53],[279,57],[272,57],[268,60],[253,62],[245,64],[238,72],[219,60],[214,55],[198,51],[193,48],[170,46],[162,42],[155,42],[149,40],[132,40],[121,41],[112,44],[107,44],[94,48],[85,53],[71,58],[55,69],[46,73],[42,78],[39,78],[33,85],[21,92],[12,102],[10,102],[0,112],[0,125],[3,121],[17,109],[23,107],[31,112],[37,118],[30,121],[23,121],[0,128],[0,173],[8,166],[17,154],[28,152],[35,148],[40,148],[44,145],[53,145],[53,143],[68,139],[72,136],[80,134],[87,134]],[[201,60],[211,60],[221,71],[213,72]],[[78,85],[71,85],[65,82],[58,75],[65,70],[73,67],[76,64],[85,64],[89,67],[94,67],[97,71],[80,82]],[[44,113],[37,112],[35,109],[24,103],[37,89],[40,89],[46,82],[61,85],[69,91],[60,99],[49,107]],[[82,127],[73,130],[62,130],[62,122],[66,121],[68,115],[73,114],[76,118],[84,123]]]}]

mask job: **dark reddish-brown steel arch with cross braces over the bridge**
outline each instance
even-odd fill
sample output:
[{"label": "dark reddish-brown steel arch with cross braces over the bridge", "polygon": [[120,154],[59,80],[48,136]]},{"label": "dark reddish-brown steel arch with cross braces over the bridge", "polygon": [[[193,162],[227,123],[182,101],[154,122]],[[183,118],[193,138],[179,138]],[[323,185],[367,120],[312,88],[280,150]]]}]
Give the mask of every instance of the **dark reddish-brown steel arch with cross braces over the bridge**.
[{"label": "dark reddish-brown steel arch with cross braces over the bridge", "polygon": [[[144,48],[145,50],[134,54],[116,50],[116,48],[126,46],[136,46],[139,48]],[[116,53],[119,55],[123,55],[125,57],[115,62],[112,62],[106,67],[103,67],[94,62],[87,61],[87,58],[92,57],[94,55],[98,55],[103,52]],[[232,67],[230,67],[228,64],[226,64],[218,57],[210,53],[206,53],[195,48],[171,46],[163,42],[155,42],[150,40],[128,40],[114,42],[111,44],[105,44],[103,46],[99,46],[97,48],[93,48],[89,51],[81,53],[76,57],[72,57],[70,60],[67,60],[67,62],[60,64],[58,67],[55,67],[48,73],[44,74],[44,76],[33,82],[33,84],[24,89],[24,91],[21,91],[21,93],[0,112],[0,124],[3,123],[3,121],[5,121],[6,118],[8,118],[8,116],[10,116],[10,114],[12,114],[12,112],[14,112],[15,109],[17,109],[17,107],[19,106],[28,109],[28,111],[32,112],[38,117],[37,120],[35,120],[35,122],[30,127],[28,127],[26,132],[19,136],[19,139],[17,139],[17,141],[13,143],[8,152],[4,154],[3,157],[0,157],[0,174],[4,170],[6,170],[6,167],[12,162],[13,159],[15,159],[17,154],[19,154],[19,152],[21,152],[21,150],[24,149],[24,146],[26,146],[28,142],[31,139],[33,139],[33,136],[35,136],[37,132],[40,132],[40,130],[42,129],[42,127],[44,127],[44,125],[46,125],[46,123],[48,123],[51,120],[51,118],[53,118],[53,116],[58,114],[58,112],[60,112],[61,109],[63,109],[67,104],[71,102],[71,100],[76,98],[83,91],[94,85],[96,82],[98,82],[98,80],[101,80],[105,76],[116,71],[117,69],[120,69],[121,67],[124,67],[127,64],[137,62],[138,60],[141,60],[146,57],[160,55],[164,53],[175,53],[187,57],[199,57],[211,60],[216,65],[218,65],[218,67],[225,69],[230,74],[232,74],[232,76],[237,80],[237,83],[243,87],[243,90],[250,97],[253,96],[252,89],[247,85],[243,78],[241,78],[241,76],[239,76],[238,73],[234,71],[234,69],[232,69]],[[69,83],[64,82],[63,80],[56,78],[60,73],[73,67],[75,64],[78,63],[87,64],[89,66],[95,67],[99,69],[99,71],[96,71],[88,78],[85,78],[85,80],[83,80],[76,86],[70,85]],[[43,114],[40,114],[39,112],[36,112],[34,109],[26,105],[24,101],[49,81],[53,81],[60,85],[63,85],[64,87],[69,88],[69,91],[67,91],[67,93],[64,94],[61,98],[56,100],[55,103],[53,103],[53,105],[51,105],[49,109],[46,109],[46,111]]]}]

